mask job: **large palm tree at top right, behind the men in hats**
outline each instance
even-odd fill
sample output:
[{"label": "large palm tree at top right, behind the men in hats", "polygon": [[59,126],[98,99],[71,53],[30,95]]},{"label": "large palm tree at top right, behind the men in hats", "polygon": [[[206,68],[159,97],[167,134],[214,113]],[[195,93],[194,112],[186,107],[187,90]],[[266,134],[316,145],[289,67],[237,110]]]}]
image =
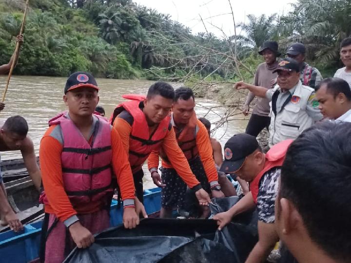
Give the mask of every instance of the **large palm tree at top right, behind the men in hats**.
[{"label": "large palm tree at top right, behind the men in hats", "polygon": [[351,35],[350,0],[298,0],[294,10],[281,18],[278,32],[284,45],[303,42],[311,59],[338,61],[343,38]]}]

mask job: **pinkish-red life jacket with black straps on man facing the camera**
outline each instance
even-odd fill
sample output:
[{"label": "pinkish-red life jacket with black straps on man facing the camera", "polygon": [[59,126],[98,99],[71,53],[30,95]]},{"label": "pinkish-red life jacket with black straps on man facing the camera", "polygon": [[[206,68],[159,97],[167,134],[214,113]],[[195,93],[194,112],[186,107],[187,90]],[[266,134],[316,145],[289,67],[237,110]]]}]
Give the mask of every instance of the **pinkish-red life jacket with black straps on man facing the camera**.
[{"label": "pinkish-red life jacket with black straps on man facing the camera", "polygon": [[[63,187],[73,207],[91,201],[104,202],[104,197],[113,191],[111,127],[103,117],[95,116],[98,121],[90,145],[65,113],[49,121],[49,126],[59,125],[62,130]],[[40,200],[44,204],[48,202],[45,193]]]}]

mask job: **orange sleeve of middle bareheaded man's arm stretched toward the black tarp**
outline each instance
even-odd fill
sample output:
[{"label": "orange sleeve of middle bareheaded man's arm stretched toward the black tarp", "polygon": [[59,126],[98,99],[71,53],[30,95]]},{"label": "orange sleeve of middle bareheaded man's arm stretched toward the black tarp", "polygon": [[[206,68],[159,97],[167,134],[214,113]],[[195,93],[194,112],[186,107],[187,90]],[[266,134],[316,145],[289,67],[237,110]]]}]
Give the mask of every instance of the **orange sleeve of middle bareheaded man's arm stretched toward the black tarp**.
[{"label": "orange sleeve of middle bareheaded man's arm stretched toward the black tarp", "polygon": [[163,139],[162,147],[166,152],[172,166],[176,169],[176,172],[189,186],[189,188],[193,188],[200,184],[191,171],[188,160],[185,158],[183,151],[180,150],[178,146],[178,143],[176,141],[176,133],[173,127],[171,131],[168,131],[166,137]]}]

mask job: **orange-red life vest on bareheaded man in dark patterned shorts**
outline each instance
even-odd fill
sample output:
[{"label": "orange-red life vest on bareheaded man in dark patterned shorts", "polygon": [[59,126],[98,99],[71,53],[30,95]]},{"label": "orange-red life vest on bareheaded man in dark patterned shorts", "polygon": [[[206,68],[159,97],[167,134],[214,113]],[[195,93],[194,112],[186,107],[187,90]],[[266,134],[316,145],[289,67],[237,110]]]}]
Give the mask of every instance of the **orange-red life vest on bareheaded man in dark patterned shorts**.
[{"label": "orange-red life vest on bareheaded man in dark patterned shorts", "polygon": [[[197,126],[195,112],[190,118],[188,124],[182,130],[179,130],[176,126],[173,126],[173,129],[176,132],[176,140],[179,148],[183,151],[187,160],[191,161],[196,158],[198,156],[196,134],[199,127]],[[160,151],[160,155],[164,161],[169,163],[169,159],[163,150]]]}]

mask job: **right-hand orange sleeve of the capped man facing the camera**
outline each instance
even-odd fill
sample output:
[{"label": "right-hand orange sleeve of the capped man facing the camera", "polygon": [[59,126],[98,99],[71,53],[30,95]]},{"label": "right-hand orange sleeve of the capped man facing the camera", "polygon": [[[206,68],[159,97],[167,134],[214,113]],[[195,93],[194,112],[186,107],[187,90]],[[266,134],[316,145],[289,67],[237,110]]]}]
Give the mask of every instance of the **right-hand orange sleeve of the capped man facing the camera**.
[{"label": "right-hand orange sleeve of the capped man facing the camera", "polygon": [[111,130],[112,166],[117,177],[122,200],[134,199],[135,187],[132,170],[128,162],[120,135],[116,129]]}]

